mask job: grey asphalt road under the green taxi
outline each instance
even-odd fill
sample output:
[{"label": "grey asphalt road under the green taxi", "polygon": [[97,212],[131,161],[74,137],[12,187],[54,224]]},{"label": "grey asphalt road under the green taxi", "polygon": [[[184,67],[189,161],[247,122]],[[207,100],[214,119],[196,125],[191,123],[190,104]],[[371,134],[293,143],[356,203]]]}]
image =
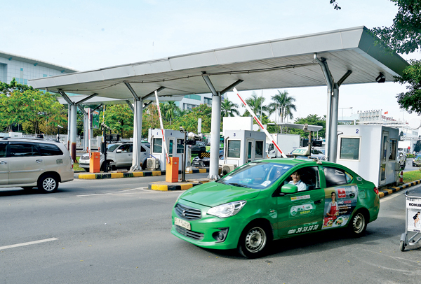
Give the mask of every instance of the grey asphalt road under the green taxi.
[{"label": "grey asphalt road under the green taxi", "polygon": [[[74,180],[54,194],[0,190],[0,283],[420,282],[421,246],[399,250],[403,191],[381,199],[366,236],[284,239],[270,255],[247,260],[173,236],[171,208],[180,192],[147,190],[163,178]],[[43,242],[25,245],[32,241]]]}]

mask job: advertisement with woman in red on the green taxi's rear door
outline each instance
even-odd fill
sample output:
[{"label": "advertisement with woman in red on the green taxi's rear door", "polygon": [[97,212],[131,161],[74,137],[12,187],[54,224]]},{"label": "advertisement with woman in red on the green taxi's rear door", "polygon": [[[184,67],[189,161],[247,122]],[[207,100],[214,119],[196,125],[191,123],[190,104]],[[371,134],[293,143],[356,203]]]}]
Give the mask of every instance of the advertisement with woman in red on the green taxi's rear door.
[{"label": "advertisement with woman in red on the green taxi's rear door", "polygon": [[323,227],[330,229],[347,225],[358,200],[356,185],[342,185],[325,190]]}]

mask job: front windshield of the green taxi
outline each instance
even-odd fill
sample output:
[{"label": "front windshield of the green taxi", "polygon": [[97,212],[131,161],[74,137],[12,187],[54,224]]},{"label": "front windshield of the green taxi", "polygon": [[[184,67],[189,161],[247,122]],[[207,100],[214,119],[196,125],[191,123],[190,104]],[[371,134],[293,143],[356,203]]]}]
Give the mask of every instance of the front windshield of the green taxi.
[{"label": "front windshield of the green taxi", "polygon": [[218,180],[218,183],[249,188],[266,188],[293,166],[271,162],[251,162]]}]

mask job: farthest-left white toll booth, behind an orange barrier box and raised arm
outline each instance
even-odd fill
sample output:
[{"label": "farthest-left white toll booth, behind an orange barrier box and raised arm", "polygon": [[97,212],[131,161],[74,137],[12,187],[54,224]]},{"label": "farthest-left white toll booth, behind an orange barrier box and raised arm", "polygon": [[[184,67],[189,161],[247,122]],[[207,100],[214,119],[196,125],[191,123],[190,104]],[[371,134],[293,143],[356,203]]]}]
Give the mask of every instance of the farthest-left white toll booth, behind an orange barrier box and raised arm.
[{"label": "farthest-left white toll booth, behind an orange barrier box and raised arm", "polygon": [[[184,139],[185,133],[180,130],[163,129],[164,139],[170,157],[178,157],[179,171],[182,170],[182,157],[184,155]],[[166,155],[163,148],[163,139],[161,129],[149,129],[148,139],[151,143],[151,159],[157,159],[156,170],[166,171]],[[186,167],[191,166],[191,157],[189,149],[187,149]]]}]

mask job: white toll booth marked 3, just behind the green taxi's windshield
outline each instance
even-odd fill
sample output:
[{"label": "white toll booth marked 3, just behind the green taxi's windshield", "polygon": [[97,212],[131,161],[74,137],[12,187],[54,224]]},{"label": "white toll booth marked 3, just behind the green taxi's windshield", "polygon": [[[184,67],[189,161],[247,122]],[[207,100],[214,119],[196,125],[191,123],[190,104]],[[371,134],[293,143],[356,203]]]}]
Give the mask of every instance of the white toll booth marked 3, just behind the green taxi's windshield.
[{"label": "white toll booth marked 3, just behind the green taxi's windshield", "polygon": [[251,130],[225,130],[222,175],[256,159],[265,159],[266,134]]}]

